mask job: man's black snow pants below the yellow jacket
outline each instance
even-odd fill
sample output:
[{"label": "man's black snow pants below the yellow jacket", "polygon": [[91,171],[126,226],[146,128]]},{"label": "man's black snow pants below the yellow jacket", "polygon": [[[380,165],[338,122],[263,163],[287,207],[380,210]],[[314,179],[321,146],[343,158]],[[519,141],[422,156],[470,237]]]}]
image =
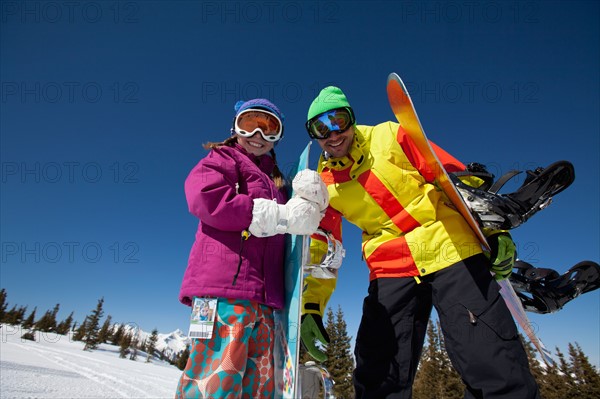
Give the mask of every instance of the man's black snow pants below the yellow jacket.
[{"label": "man's black snow pants below the yellow jacket", "polygon": [[356,338],[356,398],[412,397],[432,306],[465,398],[539,399],[527,355],[484,255],[421,278],[371,281]]}]

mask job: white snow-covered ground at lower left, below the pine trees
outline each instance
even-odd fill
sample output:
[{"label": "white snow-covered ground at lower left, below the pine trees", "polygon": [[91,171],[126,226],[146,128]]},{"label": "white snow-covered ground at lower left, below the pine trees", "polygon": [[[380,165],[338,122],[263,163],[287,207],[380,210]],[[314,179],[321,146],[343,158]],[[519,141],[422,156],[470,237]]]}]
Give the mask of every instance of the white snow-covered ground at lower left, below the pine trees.
[{"label": "white snow-covered ground at lower left, below the pine trees", "polygon": [[119,348],[84,352],[67,336],[37,333],[21,339],[19,326],[0,328],[0,398],[172,398],[181,371],[160,360],[119,358]]}]

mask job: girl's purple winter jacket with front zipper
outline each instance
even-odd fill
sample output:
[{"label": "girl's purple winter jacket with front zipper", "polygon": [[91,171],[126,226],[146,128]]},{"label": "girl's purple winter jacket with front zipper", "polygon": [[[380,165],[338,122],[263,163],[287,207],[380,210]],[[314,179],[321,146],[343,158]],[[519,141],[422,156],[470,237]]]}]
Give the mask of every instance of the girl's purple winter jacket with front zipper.
[{"label": "girl's purple winter jacket with front zipper", "polygon": [[236,144],[211,150],[190,172],[185,195],[200,223],[181,284],[182,303],[213,296],[283,306],[285,235],[250,236],[243,243],[241,235],[252,221],[253,198],[287,201],[269,177],[273,166],[269,155],[256,157]]}]

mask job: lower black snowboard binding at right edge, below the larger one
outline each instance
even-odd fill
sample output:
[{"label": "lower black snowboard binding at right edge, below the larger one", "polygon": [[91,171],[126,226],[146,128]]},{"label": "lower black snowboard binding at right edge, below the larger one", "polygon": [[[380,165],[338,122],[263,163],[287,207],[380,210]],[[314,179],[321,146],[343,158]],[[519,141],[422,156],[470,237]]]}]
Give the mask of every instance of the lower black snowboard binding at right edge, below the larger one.
[{"label": "lower black snowboard binding at right edge, below the larger one", "polygon": [[560,275],[517,260],[509,280],[523,308],[534,313],[554,313],[569,301],[600,288],[600,265],[583,261]]}]

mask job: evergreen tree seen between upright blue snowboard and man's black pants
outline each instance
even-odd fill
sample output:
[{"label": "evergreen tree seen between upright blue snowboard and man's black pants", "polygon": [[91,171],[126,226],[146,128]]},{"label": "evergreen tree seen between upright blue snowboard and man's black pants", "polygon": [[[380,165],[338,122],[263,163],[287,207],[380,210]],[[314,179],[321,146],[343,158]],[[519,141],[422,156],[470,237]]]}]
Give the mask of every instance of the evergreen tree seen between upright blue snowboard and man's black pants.
[{"label": "evergreen tree seen between upright blue snowboard and man's black pants", "polygon": [[338,306],[335,318],[333,311],[328,310],[326,330],[330,342],[327,345],[327,360],[324,362],[324,366],[329,371],[333,381],[335,381],[335,396],[338,398],[352,398],[354,397],[354,385],[352,384],[354,359],[347,325],[344,321],[344,313],[340,306]]}]

